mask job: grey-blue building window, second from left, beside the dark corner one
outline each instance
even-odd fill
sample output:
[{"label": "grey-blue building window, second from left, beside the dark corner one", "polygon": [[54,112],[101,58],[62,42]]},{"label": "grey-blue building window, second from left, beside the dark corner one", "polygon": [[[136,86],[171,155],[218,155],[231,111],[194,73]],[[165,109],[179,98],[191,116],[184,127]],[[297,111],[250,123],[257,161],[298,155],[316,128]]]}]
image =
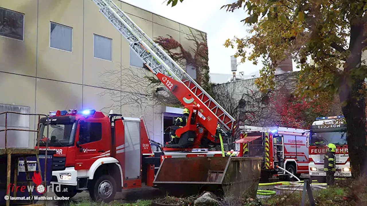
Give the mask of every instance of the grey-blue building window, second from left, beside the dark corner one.
[{"label": "grey-blue building window, second from left, beside the dark corner one", "polygon": [[50,47],[65,51],[72,51],[73,28],[51,22]]}]

